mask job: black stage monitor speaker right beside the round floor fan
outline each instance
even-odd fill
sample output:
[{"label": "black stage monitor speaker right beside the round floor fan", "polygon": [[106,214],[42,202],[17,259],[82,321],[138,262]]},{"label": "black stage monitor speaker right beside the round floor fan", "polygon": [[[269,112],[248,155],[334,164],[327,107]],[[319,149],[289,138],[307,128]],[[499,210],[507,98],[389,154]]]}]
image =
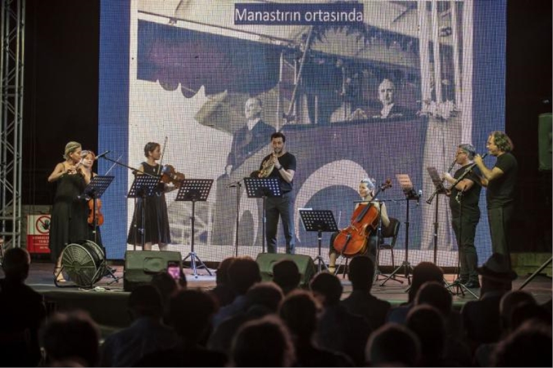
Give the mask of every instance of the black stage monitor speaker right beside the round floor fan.
[{"label": "black stage monitor speaker right beside the round floor fan", "polygon": [[[180,252],[126,251],[123,289],[133,291],[140,285],[149,284],[153,275],[168,269],[174,278],[184,277]],[[174,275],[173,271],[178,273]]]}]

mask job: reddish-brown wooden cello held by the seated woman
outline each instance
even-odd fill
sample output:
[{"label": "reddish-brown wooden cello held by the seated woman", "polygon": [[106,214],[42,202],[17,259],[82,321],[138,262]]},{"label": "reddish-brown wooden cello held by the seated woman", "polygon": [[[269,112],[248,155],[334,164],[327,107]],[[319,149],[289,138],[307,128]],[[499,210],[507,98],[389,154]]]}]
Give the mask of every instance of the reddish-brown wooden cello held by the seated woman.
[{"label": "reddish-brown wooden cello held by the seated woman", "polygon": [[[378,191],[373,195],[375,198],[380,192],[391,188],[392,181],[386,179]],[[367,238],[371,231],[378,226],[378,210],[371,203],[359,204],[351,215],[351,223],[345,229],[339,231],[334,239],[334,249],[341,255],[353,257],[359,253],[365,253],[367,249]]]}]

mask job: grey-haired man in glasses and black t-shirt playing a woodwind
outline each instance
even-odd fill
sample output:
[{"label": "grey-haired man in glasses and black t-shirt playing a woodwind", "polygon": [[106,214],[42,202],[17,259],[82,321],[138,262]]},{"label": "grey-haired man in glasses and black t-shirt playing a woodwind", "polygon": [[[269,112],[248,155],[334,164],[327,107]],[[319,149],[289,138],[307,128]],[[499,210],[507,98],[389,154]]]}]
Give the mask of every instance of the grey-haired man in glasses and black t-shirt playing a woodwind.
[{"label": "grey-haired man in glasses and black t-shirt playing a woodwind", "polygon": [[[455,157],[456,164],[461,168],[451,176],[444,173],[444,180],[453,185],[462,176],[460,182],[451,186],[449,195],[449,207],[451,208],[451,224],[459,248],[460,272],[459,278],[466,287],[480,287],[478,282],[478,255],[474,246],[476,226],[480,220],[480,177],[474,167],[473,159],[476,151],[471,144],[457,146]],[[471,170],[472,168],[472,170]],[[468,172],[467,172],[468,170]],[[465,174],[466,173],[466,174]]]}]

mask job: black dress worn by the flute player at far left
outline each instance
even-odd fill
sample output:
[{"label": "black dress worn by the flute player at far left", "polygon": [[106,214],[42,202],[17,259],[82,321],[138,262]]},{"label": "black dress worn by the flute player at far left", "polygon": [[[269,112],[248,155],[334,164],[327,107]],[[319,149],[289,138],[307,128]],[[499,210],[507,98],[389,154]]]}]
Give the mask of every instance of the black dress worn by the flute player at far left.
[{"label": "black dress worn by the flute player at far left", "polygon": [[50,217],[50,256],[55,262],[67,244],[88,239],[88,206],[79,199],[86,183],[79,174],[64,174],[57,180]]}]

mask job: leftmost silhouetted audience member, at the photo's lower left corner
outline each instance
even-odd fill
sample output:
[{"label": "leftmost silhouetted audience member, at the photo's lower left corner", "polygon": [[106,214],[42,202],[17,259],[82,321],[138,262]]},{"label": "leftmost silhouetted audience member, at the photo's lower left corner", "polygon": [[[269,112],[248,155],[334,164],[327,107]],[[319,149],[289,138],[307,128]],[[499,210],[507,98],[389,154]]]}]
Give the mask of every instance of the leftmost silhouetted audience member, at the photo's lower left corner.
[{"label": "leftmost silhouetted audience member, at the photo's lower left corner", "polygon": [[46,317],[41,294],[25,284],[30,256],[22,248],[6,251],[0,280],[0,359],[4,367],[34,367],[40,361],[38,331]]}]

